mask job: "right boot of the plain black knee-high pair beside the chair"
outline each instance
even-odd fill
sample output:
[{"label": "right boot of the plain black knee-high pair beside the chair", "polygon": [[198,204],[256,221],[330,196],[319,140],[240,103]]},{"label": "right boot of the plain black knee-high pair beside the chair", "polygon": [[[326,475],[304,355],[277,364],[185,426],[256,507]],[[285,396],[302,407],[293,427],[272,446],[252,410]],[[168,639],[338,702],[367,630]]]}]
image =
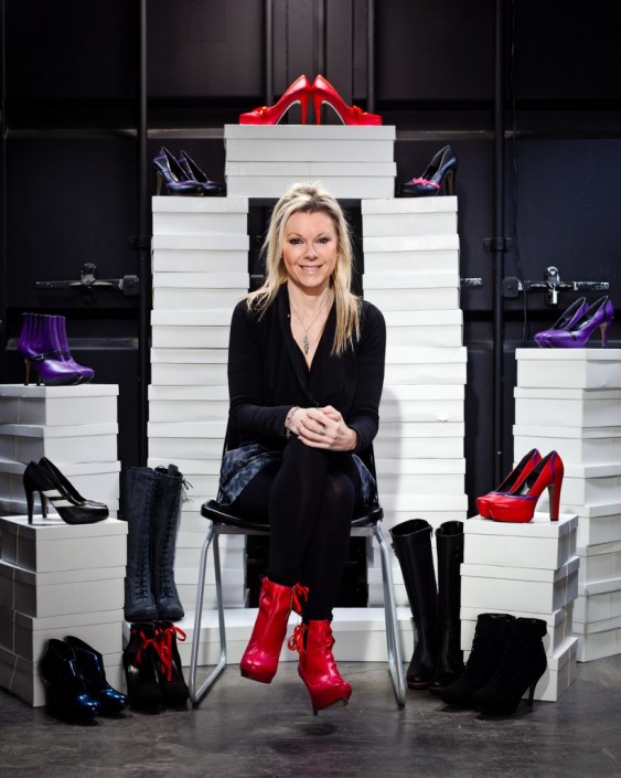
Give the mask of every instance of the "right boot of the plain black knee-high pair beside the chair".
[{"label": "right boot of the plain black knee-high pair beside the chair", "polygon": [[463,562],[463,522],[446,521],[436,530],[438,554],[438,621],[440,650],[430,692],[448,686],[463,672],[461,650],[461,563]]}]

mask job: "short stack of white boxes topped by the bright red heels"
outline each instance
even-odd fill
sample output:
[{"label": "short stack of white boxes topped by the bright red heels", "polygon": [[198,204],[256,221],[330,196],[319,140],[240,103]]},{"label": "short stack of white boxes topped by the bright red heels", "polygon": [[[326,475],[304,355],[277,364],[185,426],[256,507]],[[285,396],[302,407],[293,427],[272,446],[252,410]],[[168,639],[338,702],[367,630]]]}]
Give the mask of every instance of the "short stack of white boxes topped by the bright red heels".
[{"label": "short stack of white boxes topped by the bright red heels", "polygon": [[394,126],[225,125],[229,196],[280,198],[320,181],[335,198],[392,198]]}]

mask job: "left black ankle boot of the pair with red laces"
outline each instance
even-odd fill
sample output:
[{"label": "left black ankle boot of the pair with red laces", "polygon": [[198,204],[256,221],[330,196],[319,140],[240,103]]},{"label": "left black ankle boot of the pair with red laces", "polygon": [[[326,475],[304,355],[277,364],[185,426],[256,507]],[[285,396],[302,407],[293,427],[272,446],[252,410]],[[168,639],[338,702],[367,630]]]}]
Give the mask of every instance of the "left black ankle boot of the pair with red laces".
[{"label": "left black ankle boot of the pair with red laces", "polygon": [[144,713],[158,713],[162,704],[156,644],[156,625],[152,621],[130,626],[129,642],[122,652],[127,696],[131,707]]}]

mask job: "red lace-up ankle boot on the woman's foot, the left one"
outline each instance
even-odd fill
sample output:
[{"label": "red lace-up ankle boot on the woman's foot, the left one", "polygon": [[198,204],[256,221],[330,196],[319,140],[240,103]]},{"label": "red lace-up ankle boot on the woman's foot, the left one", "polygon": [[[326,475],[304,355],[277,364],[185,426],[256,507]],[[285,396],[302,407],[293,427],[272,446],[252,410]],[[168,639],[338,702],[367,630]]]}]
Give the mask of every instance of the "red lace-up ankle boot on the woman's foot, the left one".
[{"label": "red lace-up ankle boot on the woman's foot, the left one", "polygon": [[239,670],[244,678],[259,683],[271,683],[278,669],[278,660],[291,609],[301,612],[300,597],[307,597],[308,589],[300,584],[282,586],[269,578],[261,582],[259,612],[250,641],[242,657]]}]

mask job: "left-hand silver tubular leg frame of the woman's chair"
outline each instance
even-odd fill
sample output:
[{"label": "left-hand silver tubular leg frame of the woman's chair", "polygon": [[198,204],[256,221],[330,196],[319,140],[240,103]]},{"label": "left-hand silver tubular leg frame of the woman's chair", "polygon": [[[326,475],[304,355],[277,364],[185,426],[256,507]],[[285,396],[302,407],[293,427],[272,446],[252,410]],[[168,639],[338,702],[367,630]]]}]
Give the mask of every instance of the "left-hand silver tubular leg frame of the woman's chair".
[{"label": "left-hand silver tubular leg frame of the woman's chair", "polygon": [[[223,672],[226,667],[226,631],[224,625],[224,597],[222,593],[222,575],[220,568],[220,543],[218,533],[215,525],[212,523],[205,542],[203,543],[203,548],[201,551],[201,559],[199,563],[199,583],[196,592],[196,611],[194,614],[194,635],[192,636],[192,652],[190,654],[190,674],[189,674],[189,689],[190,689],[190,700],[194,705],[197,705],[201,700],[208,692],[211,686],[214,684],[218,675]],[[196,667],[199,662],[199,646],[201,641],[201,621],[203,616],[203,596],[205,589],[205,575],[207,569],[207,554],[210,545],[214,546],[214,568],[215,568],[215,588],[216,588],[216,600],[217,600],[217,618],[220,627],[220,661],[207,675],[205,681],[199,689],[196,689]]]}]

